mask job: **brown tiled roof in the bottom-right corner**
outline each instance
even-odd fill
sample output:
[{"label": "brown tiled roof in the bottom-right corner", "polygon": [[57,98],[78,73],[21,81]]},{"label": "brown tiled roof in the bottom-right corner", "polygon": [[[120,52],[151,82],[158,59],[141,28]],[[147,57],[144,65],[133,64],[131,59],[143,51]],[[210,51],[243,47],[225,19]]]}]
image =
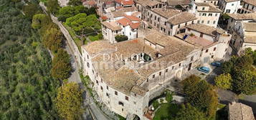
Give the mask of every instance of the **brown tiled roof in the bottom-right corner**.
[{"label": "brown tiled roof in the bottom-right corner", "polygon": [[241,103],[232,103],[228,106],[230,120],[255,120],[252,108]]}]

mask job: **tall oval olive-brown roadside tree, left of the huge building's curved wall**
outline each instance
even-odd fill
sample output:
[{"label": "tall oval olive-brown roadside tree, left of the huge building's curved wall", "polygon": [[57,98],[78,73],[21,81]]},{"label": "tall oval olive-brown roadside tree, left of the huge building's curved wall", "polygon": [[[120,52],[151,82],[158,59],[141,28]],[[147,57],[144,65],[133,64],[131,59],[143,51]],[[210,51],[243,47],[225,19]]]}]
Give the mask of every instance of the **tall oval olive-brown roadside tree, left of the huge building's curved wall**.
[{"label": "tall oval olive-brown roadside tree, left of the huge building's curved wall", "polygon": [[[67,58],[64,58],[67,56]],[[52,69],[51,74],[54,79],[58,79],[60,81],[67,79],[70,76],[70,71],[72,70],[70,64],[70,56],[63,49],[59,49],[57,54],[54,56],[52,61]]]}]

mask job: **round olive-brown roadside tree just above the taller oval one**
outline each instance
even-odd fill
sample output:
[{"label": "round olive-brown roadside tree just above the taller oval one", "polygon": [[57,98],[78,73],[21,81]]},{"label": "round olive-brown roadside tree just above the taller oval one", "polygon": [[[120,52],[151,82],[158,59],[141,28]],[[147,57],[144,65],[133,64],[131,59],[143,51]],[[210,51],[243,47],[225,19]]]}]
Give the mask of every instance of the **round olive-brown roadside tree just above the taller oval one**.
[{"label": "round olive-brown roadside tree just above the taller oval one", "polygon": [[57,52],[62,46],[62,32],[57,28],[47,29],[42,37],[44,46],[53,52]]}]

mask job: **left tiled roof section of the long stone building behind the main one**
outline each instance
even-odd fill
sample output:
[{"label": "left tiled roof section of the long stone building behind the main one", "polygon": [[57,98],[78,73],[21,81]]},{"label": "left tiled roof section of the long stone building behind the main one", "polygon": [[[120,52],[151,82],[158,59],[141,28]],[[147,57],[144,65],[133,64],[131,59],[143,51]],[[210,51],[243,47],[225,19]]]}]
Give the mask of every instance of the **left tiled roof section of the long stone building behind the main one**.
[{"label": "left tiled roof section of the long stone building behind the main one", "polygon": [[175,16],[176,14],[179,14],[180,11],[178,10],[175,10],[175,9],[161,9],[161,8],[155,8],[155,9],[152,9],[153,12],[156,12],[156,14],[159,14],[167,19]]}]

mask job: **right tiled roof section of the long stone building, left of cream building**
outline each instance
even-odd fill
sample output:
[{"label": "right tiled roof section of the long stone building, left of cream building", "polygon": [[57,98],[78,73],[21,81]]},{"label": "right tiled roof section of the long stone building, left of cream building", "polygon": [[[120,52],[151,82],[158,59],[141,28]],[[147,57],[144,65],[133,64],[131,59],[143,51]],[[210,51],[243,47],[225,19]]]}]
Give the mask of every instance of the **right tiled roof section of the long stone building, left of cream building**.
[{"label": "right tiled roof section of the long stone building, left of cream building", "polygon": [[181,24],[181,23],[185,23],[187,21],[193,21],[197,19],[196,16],[194,16],[194,14],[190,14],[187,11],[181,12],[181,14],[178,14],[176,16],[174,16],[173,18],[169,19],[169,23],[171,24]]}]

